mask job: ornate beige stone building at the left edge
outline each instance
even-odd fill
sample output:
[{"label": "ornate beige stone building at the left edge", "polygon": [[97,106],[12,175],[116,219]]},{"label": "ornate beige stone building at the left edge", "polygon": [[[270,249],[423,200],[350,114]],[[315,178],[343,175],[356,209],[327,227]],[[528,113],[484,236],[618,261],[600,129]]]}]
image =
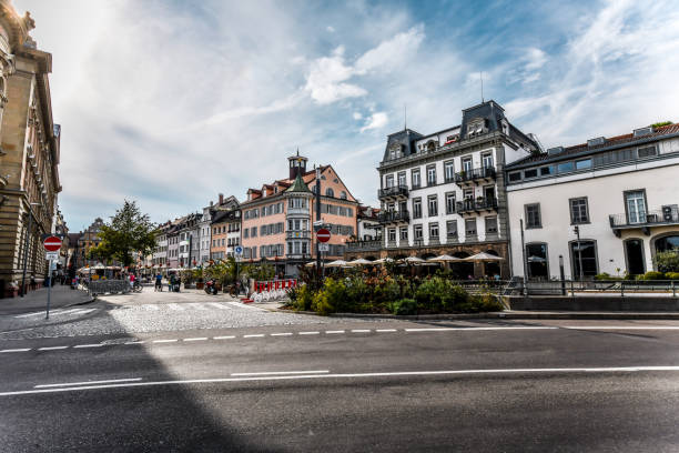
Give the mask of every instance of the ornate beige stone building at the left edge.
[{"label": "ornate beige stone building at the left edge", "polygon": [[[12,296],[27,269],[41,281],[41,235],[52,232],[59,182],[59,124],[52,120],[50,53],[29,36],[34,22],[0,0],[0,295]],[[30,226],[30,228],[29,228]],[[29,231],[30,229],[30,231]]]}]

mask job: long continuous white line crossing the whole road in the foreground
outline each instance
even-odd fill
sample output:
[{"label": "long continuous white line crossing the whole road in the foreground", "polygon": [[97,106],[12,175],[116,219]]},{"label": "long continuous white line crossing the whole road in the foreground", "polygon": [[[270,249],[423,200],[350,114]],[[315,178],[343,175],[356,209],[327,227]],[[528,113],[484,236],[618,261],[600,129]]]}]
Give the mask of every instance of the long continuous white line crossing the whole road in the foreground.
[{"label": "long continuous white line crossing the whole road in the foreground", "polygon": [[112,384],[97,384],[83,386],[68,386],[54,389],[20,390],[0,392],[0,396],[28,395],[39,393],[75,392],[81,390],[120,389],[158,385],[186,385],[225,382],[256,382],[256,381],[293,381],[313,379],[356,379],[356,378],[388,378],[388,376],[430,376],[430,375],[462,375],[462,374],[548,374],[548,373],[635,373],[635,372],[668,371],[677,372],[679,366],[611,366],[611,368],[570,368],[570,369],[495,369],[495,370],[437,370],[437,371],[396,371],[374,373],[337,373],[337,374],[292,374],[243,378],[191,379],[178,381],[128,382]]}]

